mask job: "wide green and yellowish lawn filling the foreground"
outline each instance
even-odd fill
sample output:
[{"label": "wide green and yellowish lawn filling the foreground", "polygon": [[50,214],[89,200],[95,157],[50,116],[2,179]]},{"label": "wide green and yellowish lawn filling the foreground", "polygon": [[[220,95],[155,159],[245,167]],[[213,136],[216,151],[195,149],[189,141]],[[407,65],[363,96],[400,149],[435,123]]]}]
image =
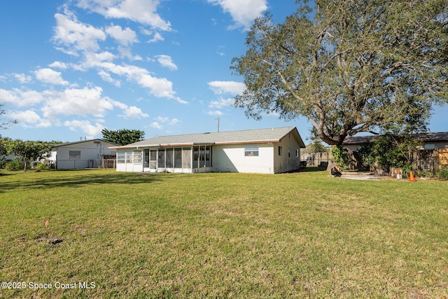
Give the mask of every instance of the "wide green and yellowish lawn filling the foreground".
[{"label": "wide green and yellowish lawn filling the foreground", "polygon": [[0,298],[448,297],[448,181],[8,174]]}]

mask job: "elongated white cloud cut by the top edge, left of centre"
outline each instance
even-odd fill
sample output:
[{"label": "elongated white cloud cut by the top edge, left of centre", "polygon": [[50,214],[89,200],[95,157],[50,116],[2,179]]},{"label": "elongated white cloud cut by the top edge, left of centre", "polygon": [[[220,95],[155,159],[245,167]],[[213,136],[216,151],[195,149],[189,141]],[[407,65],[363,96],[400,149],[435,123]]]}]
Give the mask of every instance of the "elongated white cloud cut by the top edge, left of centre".
[{"label": "elongated white cloud cut by the top edge, left of centre", "polygon": [[155,29],[171,31],[171,24],[157,13],[160,0],[80,0],[78,6],[105,18],[127,19]]}]

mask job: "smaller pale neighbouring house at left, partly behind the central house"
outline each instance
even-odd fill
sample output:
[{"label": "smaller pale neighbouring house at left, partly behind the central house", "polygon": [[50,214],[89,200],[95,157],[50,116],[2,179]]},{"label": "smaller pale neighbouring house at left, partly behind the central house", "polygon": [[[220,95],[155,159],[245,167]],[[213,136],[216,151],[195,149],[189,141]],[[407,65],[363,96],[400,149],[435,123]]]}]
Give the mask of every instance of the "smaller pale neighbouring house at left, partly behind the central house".
[{"label": "smaller pale neighbouring house at left, partly behind the central house", "polygon": [[48,160],[56,165],[56,169],[97,168],[101,165],[102,155],[116,155],[117,146],[102,139],[83,140],[56,144],[51,149]]}]

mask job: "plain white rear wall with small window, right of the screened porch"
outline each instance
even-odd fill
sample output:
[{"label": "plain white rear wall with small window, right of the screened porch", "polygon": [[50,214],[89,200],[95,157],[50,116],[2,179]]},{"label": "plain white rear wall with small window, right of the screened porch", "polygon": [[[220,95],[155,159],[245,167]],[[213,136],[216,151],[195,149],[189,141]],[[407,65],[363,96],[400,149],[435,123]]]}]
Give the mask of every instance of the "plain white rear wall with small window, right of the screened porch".
[{"label": "plain white rear wall with small window, right of the screened porch", "polygon": [[[258,156],[246,156],[246,146],[258,146]],[[225,144],[212,147],[214,172],[274,173],[272,144]]]}]

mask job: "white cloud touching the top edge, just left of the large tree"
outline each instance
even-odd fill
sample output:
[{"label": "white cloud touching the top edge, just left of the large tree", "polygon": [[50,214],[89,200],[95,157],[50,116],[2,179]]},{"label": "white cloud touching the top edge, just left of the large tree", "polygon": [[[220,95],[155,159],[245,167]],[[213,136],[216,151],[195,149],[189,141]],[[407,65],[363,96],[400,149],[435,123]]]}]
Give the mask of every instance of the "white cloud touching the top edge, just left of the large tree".
[{"label": "white cloud touching the top edge, just left of the large tree", "polygon": [[219,5],[225,13],[230,13],[235,25],[230,28],[244,27],[248,29],[251,22],[267,10],[267,0],[207,0]]}]

